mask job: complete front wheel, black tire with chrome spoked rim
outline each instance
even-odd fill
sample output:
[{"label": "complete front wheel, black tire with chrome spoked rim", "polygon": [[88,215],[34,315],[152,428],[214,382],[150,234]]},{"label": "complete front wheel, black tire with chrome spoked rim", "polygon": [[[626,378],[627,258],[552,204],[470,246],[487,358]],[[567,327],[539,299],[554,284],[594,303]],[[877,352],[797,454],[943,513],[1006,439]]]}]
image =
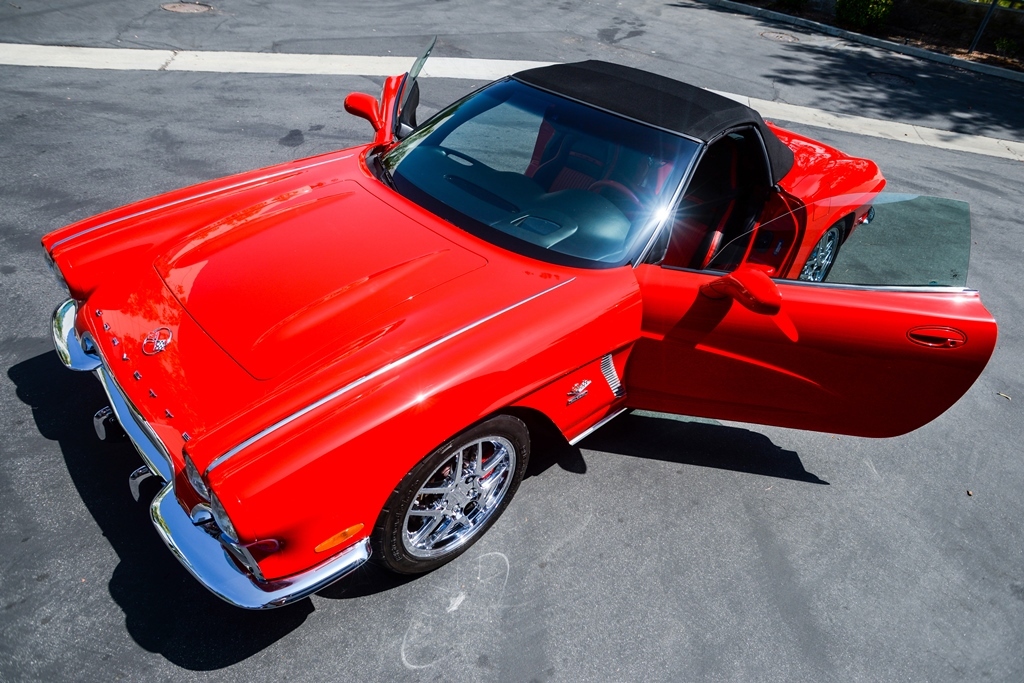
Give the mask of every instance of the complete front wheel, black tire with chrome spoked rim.
[{"label": "complete front wheel, black tire with chrome spoked rim", "polygon": [[371,537],[374,555],[398,573],[431,571],[458,557],[508,507],[528,460],[529,432],[510,415],[450,439],[391,493]]}]

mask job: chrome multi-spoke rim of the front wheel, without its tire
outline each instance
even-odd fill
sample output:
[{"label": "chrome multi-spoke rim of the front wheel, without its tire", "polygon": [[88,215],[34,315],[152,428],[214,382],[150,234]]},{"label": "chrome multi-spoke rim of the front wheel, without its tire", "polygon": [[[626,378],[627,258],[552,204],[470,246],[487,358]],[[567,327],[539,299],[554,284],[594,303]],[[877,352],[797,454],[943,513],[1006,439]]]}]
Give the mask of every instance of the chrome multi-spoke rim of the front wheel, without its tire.
[{"label": "chrome multi-spoke rim of the front wheel, without its tire", "polygon": [[406,552],[433,559],[472,541],[499,509],[515,469],[515,446],[503,436],[477,438],[450,454],[406,511]]}]

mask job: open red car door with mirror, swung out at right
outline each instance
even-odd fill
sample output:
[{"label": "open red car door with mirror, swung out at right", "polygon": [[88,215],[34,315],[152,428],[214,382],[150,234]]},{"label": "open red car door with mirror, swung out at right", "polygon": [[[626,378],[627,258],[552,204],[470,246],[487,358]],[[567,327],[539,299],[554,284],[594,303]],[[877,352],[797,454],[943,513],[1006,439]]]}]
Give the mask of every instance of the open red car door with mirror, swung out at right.
[{"label": "open red car door with mirror, swung out at right", "polygon": [[[891,209],[890,224],[859,240],[863,249],[850,236],[837,257],[834,273],[869,284],[773,280],[750,262],[731,272],[639,265],[643,323],[628,404],[857,436],[896,436],[941,415],[985,368],[996,325],[977,292],[937,285],[923,261],[953,259],[966,282],[969,223],[964,240],[963,226],[936,233],[929,215],[922,251],[899,220],[920,207],[905,209]],[[894,244],[910,245],[910,256]],[[924,283],[900,282],[897,266]],[[948,279],[947,264],[932,269]]]}]

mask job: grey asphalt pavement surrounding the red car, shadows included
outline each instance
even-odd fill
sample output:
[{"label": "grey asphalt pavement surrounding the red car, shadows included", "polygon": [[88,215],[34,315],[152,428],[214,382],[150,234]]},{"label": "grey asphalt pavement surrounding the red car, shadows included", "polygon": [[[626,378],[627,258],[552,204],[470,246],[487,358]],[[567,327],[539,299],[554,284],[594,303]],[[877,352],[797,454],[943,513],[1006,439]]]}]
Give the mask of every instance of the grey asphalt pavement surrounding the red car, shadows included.
[{"label": "grey asphalt pavement surrounding the red car, shadows included", "polygon": [[[602,58],[750,97],[1024,140],[1024,85],[690,2],[12,0],[0,42]],[[784,34],[796,41],[779,39]],[[356,144],[382,79],[0,67],[0,680],[1024,680],[1024,164],[794,124],[888,189],[967,202],[967,283],[999,323],[946,414],[863,439],[638,413],[535,447],[493,529],[416,579],[374,565],[229,607],[135,503],[128,445],[49,341],[45,232]],[[425,80],[436,110],[480,82]],[[785,122],[780,122],[785,125]],[[971,492],[969,495],[968,492]]]}]

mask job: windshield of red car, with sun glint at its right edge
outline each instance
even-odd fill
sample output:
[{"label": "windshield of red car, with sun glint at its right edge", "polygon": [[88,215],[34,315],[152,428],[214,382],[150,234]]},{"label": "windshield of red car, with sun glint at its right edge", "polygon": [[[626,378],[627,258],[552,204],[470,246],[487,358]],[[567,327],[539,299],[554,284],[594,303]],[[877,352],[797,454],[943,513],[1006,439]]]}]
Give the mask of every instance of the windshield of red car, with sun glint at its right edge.
[{"label": "windshield of red car, with sun glint at its right edge", "polygon": [[506,249],[566,265],[634,258],[670,214],[687,138],[505,80],[384,158],[395,189]]}]

